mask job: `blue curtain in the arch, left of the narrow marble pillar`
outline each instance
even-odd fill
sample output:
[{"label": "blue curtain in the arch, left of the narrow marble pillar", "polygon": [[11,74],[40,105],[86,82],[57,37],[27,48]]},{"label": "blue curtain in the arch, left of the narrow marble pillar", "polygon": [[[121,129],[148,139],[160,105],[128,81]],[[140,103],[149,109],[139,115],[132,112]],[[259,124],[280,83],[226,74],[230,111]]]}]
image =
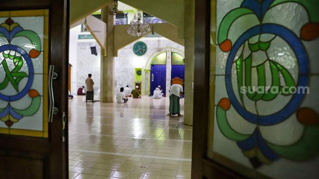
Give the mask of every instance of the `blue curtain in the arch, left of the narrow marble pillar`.
[{"label": "blue curtain in the arch, left of the narrow marble pillar", "polygon": [[150,66],[150,94],[161,86],[163,93],[166,93],[166,65],[151,65]]}]

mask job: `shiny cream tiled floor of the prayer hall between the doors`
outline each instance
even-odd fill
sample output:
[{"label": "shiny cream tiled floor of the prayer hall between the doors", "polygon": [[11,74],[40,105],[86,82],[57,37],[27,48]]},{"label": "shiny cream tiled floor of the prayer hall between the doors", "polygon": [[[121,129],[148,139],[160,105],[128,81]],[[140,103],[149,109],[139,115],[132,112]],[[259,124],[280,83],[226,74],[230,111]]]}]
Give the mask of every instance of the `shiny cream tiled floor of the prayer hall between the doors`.
[{"label": "shiny cream tiled floor of the prayer hall between the doors", "polygon": [[190,179],[192,128],[168,108],[169,98],[69,100],[69,178]]}]

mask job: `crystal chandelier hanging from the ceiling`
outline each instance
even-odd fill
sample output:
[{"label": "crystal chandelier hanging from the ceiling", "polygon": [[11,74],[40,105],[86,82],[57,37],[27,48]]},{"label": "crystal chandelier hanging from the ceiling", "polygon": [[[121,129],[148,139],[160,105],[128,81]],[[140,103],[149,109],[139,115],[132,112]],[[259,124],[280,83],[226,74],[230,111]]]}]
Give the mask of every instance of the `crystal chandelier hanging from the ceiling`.
[{"label": "crystal chandelier hanging from the ceiling", "polygon": [[145,22],[145,18],[142,17],[140,11],[137,11],[137,15],[135,14],[133,19],[131,20],[128,26],[128,34],[131,36],[146,35],[150,32],[149,22]]}]

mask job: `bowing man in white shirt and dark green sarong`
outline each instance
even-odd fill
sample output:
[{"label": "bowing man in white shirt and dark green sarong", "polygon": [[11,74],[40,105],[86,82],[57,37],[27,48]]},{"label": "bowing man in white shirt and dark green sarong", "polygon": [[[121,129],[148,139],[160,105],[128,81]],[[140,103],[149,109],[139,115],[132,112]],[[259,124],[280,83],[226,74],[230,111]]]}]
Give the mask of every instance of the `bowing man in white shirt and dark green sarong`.
[{"label": "bowing man in white shirt and dark green sarong", "polygon": [[183,94],[183,87],[179,84],[173,84],[170,86],[170,113],[168,115],[183,116],[180,113],[179,99]]}]

